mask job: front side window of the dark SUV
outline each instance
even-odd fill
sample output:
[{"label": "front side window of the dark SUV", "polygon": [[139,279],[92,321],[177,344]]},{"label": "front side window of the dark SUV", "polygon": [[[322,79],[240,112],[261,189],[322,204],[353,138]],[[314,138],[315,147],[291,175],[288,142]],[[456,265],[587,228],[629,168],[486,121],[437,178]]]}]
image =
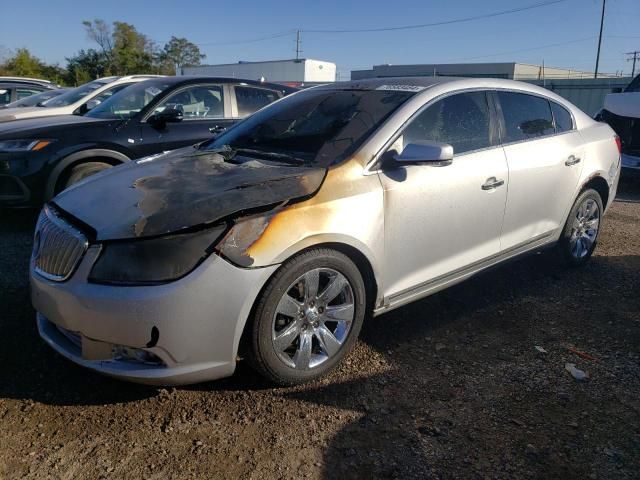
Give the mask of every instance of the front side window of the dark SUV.
[{"label": "front side window of the dark SUV", "polygon": [[222,87],[219,85],[198,85],[185,88],[163,101],[154,112],[167,107],[182,108],[185,120],[201,120],[224,117]]}]

